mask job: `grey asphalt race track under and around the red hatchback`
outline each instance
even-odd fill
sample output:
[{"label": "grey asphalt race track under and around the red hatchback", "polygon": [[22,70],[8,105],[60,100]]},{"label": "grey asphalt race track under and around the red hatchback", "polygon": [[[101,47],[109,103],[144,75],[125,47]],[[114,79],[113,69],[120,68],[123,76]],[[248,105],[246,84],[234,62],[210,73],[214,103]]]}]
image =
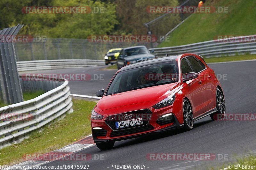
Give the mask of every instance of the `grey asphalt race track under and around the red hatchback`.
[{"label": "grey asphalt race track under and around the red hatchback", "polygon": [[[220,79],[226,100],[226,113],[256,113],[256,61],[209,64]],[[100,67],[41,71],[47,73],[104,74],[103,81],[70,81],[71,93],[94,95],[106,88],[115,70]],[[37,71],[39,72],[39,71]],[[104,160],[55,160],[45,165],[89,165],[89,169],[111,169],[111,165],[146,165],[145,169],[208,169],[226,167],[236,156],[256,152],[255,121],[212,121],[209,116],[196,121],[187,132],[174,130],[166,134],[140,137],[116,142],[111,150],[101,151],[96,145],[77,153],[104,154]],[[220,160],[148,160],[147,153],[213,153],[225,154]],[[228,154],[228,156],[227,156]],[[220,156],[221,157],[221,156]],[[218,159],[218,156],[217,156]],[[113,169],[113,168],[112,168]]]}]

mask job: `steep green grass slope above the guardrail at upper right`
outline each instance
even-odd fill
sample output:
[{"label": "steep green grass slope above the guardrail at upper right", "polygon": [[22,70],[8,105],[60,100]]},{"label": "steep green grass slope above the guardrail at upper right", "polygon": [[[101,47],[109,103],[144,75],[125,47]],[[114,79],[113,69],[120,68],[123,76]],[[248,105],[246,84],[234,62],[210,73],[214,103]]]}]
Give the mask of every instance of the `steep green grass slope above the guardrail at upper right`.
[{"label": "steep green grass slope above the guardrail at upper right", "polygon": [[204,6],[228,7],[228,12],[194,13],[158,47],[214,40],[217,35],[255,34],[255,0],[211,0]]}]

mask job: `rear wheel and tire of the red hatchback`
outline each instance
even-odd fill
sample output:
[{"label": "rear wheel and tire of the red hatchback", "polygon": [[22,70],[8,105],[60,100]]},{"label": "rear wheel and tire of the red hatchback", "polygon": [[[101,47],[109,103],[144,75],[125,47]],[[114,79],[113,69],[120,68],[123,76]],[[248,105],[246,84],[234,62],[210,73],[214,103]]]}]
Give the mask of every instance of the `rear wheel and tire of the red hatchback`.
[{"label": "rear wheel and tire of the red hatchback", "polygon": [[216,108],[218,111],[210,115],[212,120],[221,119],[226,114],[226,105],[225,105],[224,95],[221,92],[219,87],[216,89]]}]

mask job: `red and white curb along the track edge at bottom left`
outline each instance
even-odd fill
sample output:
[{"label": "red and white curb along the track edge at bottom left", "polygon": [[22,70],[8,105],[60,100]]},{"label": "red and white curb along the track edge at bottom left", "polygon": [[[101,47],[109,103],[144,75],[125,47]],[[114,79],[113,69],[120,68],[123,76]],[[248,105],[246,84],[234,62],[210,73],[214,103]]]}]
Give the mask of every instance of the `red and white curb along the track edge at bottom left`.
[{"label": "red and white curb along the track edge at bottom left", "polygon": [[57,157],[55,157],[55,159],[52,158],[49,160],[27,160],[27,161],[21,162],[16,165],[12,165],[9,168],[3,169],[3,170],[10,170],[10,169],[11,170],[25,170],[26,169],[25,167],[43,165],[47,162],[51,162],[51,161],[66,157],[66,156],[68,156],[72,153],[75,153],[77,151],[80,151],[82,149],[89,148],[94,144],[95,143],[93,142],[92,134],[91,134],[83,139],[80,139],[80,140],[74,142],[73,144],[64,146],[63,148],[54,150],[52,152],[44,153],[44,157],[47,157],[47,155],[52,155],[52,154],[57,155]]}]

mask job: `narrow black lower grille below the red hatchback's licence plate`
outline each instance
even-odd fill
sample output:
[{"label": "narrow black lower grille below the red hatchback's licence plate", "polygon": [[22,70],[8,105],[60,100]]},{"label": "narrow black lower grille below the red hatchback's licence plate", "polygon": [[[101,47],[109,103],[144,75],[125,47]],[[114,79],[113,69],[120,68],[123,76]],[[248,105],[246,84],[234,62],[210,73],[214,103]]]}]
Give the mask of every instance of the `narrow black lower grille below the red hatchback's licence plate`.
[{"label": "narrow black lower grille below the red hatchback's licence plate", "polygon": [[134,128],[129,128],[129,129],[116,130],[116,131],[111,132],[110,137],[128,135],[131,133],[138,133],[138,132],[143,132],[143,131],[147,131],[147,130],[151,130],[151,129],[154,129],[154,127],[151,125],[145,125],[142,127],[134,127]]}]

